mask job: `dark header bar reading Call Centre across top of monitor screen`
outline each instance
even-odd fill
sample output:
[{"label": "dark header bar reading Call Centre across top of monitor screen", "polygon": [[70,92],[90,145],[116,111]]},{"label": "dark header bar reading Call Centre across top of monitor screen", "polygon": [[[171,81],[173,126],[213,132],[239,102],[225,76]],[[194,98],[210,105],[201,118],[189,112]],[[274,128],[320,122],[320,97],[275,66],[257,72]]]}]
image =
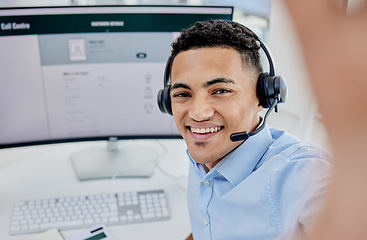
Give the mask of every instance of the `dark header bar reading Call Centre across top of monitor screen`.
[{"label": "dark header bar reading Call Centre across top of monitor screen", "polygon": [[190,6],[0,9],[0,36],[97,32],[180,32],[196,21],[231,20],[232,10],[232,7]]}]

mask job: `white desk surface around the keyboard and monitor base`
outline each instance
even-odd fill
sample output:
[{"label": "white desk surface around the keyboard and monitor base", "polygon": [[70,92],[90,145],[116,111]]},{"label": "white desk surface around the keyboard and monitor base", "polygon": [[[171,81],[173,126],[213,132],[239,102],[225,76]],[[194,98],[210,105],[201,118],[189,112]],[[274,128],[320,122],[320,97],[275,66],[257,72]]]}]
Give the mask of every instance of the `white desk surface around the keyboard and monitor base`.
[{"label": "white desk surface around the keyboard and monitor base", "polygon": [[[183,140],[159,141],[166,147],[160,166],[175,176],[187,176],[188,159]],[[63,143],[0,150],[0,239],[26,240],[35,234],[9,235],[9,222],[14,201],[92,193],[113,193],[163,189],[171,210],[168,221],[108,227],[117,240],[185,239],[191,232],[182,181],[164,174],[158,168],[150,178],[117,178],[79,181],[70,154],[105,142]],[[161,147],[162,148],[162,147]],[[161,149],[162,150],[162,149]],[[67,237],[80,230],[61,231]]]}]

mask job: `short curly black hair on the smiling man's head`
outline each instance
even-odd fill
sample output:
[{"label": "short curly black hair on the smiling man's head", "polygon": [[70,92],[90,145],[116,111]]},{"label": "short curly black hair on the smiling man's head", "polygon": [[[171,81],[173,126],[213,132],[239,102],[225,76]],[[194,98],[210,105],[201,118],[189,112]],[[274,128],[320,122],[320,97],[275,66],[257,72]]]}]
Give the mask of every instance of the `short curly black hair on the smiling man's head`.
[{"label": "short curly black hair on the smiling man's head", "polygon": [[208,20],[196,22],[181,31],[172,44],[171,59],[183,51],[205,47],[222,47],[237,50],[249,70],[256,76],[263,72],[260,60],[260,45],[254,33],[243,25],[228,20]]}]

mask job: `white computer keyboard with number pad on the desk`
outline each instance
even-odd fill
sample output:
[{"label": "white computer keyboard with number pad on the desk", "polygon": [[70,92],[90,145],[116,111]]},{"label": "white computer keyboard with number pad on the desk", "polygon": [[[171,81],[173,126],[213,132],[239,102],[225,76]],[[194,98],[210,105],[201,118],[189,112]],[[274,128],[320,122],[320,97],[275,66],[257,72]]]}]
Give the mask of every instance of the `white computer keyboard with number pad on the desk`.
[{"label": "white computer keyboard with number pad on the desk", "polygon": [[163,190],[95,194],[16,202],[10,234],[167,220]]}]

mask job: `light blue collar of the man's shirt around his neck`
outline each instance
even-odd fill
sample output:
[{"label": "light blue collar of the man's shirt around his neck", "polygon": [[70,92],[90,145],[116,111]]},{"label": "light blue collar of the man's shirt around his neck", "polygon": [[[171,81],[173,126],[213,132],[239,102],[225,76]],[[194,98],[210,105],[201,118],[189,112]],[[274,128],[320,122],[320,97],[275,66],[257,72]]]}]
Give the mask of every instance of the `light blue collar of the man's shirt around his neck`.
[{"label": "light blue collar of the man's shirt around his neck", "polygon": [[[271,143],[272,135],[267,126],[259,133],[251,136],[243,142],[238,148],[225,156],[214,168],[205,176],[215,177],[222,175],[233,186],[243,181],[250,174],[262,165],[262,156],[265,154]],[[187,151],[191,162],[196,165],[197,169],[205,175],[205,171],[201,164],[196,163]]]}]

